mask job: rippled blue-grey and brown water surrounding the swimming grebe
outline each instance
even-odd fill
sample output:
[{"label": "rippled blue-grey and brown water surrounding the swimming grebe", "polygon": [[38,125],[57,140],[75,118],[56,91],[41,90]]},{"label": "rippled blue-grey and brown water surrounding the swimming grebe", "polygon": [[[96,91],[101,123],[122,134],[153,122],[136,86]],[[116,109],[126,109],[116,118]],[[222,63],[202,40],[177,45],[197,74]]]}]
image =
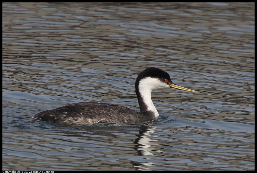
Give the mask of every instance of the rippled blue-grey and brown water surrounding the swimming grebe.
[{"label": "rippled blue-grey and brown water surrounding the swimming grebe", "polygon": [[[139,124],[30,119],[84,101],[138,109],[134,81],[166,70]],[[254,3],[3,3],[3,170],[254,170]]]}]

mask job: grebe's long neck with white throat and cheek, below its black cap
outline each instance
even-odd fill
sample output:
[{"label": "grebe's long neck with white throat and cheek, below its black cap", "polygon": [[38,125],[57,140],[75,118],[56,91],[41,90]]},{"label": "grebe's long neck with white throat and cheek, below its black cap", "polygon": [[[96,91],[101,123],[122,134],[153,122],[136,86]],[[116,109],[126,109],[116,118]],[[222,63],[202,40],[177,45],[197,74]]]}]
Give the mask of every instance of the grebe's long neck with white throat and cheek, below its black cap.
[{"label": "grebe's long neck with white throat and cheek, below its black cap", "polygon": [[140,106],[140,112],[145,113],[148,112],[152,114],[155,118],[159,116],[158,111],[153,105],[151,99],[151,92],[153,89],[160,88],[168,88],[169,86],[163,82],[161,82],[157,78],[146,77],[139,81],[138,91],[137,91],[137,99]]}]

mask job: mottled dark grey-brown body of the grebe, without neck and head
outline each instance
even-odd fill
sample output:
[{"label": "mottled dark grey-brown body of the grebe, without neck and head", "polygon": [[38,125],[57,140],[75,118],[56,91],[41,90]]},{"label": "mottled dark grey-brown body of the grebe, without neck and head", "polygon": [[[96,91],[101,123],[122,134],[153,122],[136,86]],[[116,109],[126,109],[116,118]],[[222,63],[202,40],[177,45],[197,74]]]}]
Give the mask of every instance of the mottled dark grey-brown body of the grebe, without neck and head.
[{"label": "mottled dark grey-brown body of the grebe, without neck and head", "polygon": [[154,117],[130,108],[98,102],[73,103],[53,110],[43,111],[32,118],[67,124],[137,123]]}]

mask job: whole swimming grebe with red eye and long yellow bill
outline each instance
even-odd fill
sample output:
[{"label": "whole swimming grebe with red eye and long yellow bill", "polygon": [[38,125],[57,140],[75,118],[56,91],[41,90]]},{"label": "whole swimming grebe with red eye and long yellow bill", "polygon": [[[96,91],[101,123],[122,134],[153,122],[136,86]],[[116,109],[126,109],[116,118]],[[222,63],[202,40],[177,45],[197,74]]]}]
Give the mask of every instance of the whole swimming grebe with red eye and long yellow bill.
[{"label": "whole swimming grebe with red eye and long yellow bill", "polygon": [[130,108],[99,102],[72,103],[34,115],[33,119],[73,125],[96,123],[138,123],[159,116],[151,99],[153,89],[176,88],[197,92],[172,83],[170,75],[159,68],[149,67],[136,78],[135,90],[140,112]]}]

